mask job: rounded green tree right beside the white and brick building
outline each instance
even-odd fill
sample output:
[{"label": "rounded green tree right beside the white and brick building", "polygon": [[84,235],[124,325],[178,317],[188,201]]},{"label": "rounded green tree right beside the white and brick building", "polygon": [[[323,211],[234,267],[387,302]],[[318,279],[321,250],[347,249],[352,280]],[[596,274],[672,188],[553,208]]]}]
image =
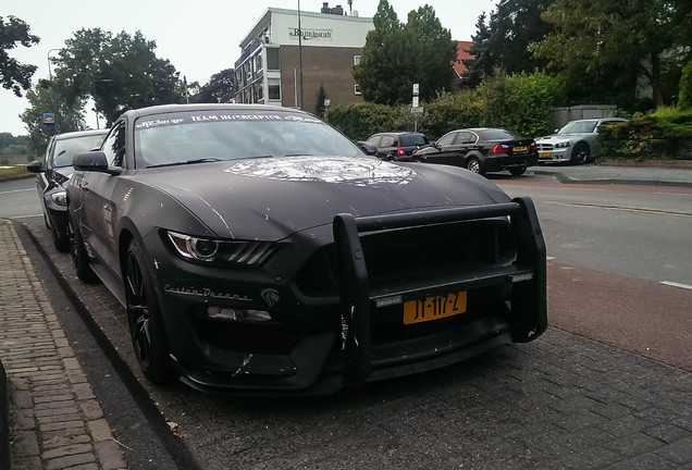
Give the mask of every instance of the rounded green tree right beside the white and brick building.
[{"label": "rounded green tree right beside the white and brick building", "polygon": [[409,12],[404,25],[388,1],[380,0],[373,24],[353,72],[367,101],[410,102],[415,83],[423,100],[452,88],[456,44],[432,7]]}]

